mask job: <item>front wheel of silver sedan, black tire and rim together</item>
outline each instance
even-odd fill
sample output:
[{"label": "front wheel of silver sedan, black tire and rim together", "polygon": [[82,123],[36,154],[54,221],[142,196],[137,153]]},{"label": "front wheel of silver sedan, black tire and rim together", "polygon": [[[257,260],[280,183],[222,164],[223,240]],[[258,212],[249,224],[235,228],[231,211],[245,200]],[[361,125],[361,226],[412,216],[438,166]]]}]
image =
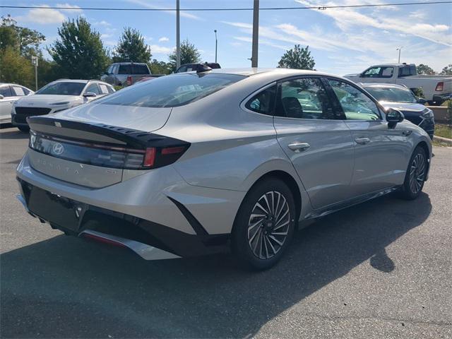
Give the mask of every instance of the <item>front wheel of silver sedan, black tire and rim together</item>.
[{"label": "front wheel of silver sedan, black tire and rim together", "polygon": [[408,162],[405,181],[403,182],[401,196],[406,200],[417,198],[424,187],[427,176],[428,162],[424,148],[417,146]]}]

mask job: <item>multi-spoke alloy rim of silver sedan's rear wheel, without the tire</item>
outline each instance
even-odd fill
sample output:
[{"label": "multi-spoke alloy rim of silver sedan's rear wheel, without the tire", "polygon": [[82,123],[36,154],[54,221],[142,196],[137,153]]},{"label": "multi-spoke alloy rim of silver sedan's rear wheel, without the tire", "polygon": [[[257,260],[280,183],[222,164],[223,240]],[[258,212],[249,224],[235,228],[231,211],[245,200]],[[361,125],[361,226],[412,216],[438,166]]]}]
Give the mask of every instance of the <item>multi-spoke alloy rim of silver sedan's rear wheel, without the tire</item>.
[{"label": "multi-spoke alloy rim of silver sedan's rear wheel, without the tire", "polygon": [[269,259],[283,247],[290,227],[287,199],[278,191],[263,194],[254,204],[248,223],[248,244],[255,256]]}]

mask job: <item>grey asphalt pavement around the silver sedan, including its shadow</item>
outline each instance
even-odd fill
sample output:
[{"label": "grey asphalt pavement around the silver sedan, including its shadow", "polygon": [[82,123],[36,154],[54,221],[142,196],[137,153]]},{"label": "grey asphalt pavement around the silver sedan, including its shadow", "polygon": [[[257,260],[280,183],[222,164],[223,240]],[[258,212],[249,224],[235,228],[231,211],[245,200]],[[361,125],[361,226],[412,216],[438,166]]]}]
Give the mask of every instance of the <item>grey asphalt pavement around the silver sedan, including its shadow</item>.
[{"label": "grey asphalt pavement around the silver sedan, including its shadow", "polygon": [[0,130],[1,338],[452,338],[452,149],[417,201],[378,198],[297,232],[261,273],[230,255],[143,261],[18,201],[28,136]]}]

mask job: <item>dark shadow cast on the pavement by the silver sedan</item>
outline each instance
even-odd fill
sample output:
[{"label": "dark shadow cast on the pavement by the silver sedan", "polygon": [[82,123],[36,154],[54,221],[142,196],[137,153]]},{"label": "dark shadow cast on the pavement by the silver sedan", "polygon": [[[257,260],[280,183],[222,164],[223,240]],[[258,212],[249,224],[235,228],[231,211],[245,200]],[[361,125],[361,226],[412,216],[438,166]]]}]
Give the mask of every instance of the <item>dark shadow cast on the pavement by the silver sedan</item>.
[{"label": "dark shadow cast on the pavement by the silver sedan", "polygon": [[2,336],[225,338],[254,335],[300,300],[369,264],[394,269],[385,247],[432,205],[385,196],[314,222],[266,272],[230,256],[143,261],[129,251],[59,236],[1,256]]}]

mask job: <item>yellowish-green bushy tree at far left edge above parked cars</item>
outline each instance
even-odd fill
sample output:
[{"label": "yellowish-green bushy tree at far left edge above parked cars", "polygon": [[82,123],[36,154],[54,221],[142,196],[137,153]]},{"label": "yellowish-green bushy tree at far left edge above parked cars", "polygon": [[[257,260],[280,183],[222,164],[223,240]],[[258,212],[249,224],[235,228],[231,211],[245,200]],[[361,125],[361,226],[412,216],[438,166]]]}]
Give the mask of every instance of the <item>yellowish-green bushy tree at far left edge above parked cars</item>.
[{"label": "yellowish-green bushy tree at far left edge above parked cars", "polygon": [[5,47],[0,53],[0,82],[18,83],[35,88],[35,73],[31,61],[20,56],[13,46]]}]

